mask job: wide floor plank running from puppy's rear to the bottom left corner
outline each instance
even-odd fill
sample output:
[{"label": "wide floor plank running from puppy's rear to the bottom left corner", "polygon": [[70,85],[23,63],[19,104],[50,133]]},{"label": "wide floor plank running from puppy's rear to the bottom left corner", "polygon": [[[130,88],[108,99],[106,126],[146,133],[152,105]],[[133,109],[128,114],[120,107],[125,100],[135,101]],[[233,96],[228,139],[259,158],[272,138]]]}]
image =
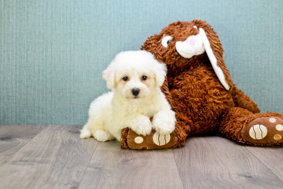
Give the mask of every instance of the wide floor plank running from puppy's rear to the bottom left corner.
[{"label": "wide floor plank running from puppy's rear to the bottom left corner", "polygon": [[0,167],[0,188],[77,188],[97,141],[81,126],[49,125]]}]

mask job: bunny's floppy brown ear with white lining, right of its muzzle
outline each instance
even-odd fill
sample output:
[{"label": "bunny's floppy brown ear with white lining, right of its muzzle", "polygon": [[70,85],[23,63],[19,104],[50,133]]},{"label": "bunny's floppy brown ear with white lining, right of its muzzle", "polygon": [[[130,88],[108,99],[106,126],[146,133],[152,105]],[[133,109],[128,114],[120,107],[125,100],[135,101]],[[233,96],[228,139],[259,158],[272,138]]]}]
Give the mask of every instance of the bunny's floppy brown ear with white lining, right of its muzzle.
[{"label": "bunny's floppy brown ear with white lining, right of its muzzle", "polygon": [[211,65],[226,90],[234,88],[230,73],[226,68],[223,60],[223,49],[219,37],[213,31],[210,25],[204,21],[196,21],[199,23],[199,34],[202,37],[206,54],[211,62]]}]

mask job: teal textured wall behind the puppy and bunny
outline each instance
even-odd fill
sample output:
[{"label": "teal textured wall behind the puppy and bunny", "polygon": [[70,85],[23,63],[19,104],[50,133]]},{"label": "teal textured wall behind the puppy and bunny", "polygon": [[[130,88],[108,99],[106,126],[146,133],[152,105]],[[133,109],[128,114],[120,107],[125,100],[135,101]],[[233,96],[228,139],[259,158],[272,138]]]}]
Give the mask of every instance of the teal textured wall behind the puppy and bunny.
[{"label": "teal textured wall behind the puppy and bunny", "polygon": [[118,52],[194,18],[218,32],[238,88],[283,113],[282,0],[0,0],[0,124],[84,124]]}]

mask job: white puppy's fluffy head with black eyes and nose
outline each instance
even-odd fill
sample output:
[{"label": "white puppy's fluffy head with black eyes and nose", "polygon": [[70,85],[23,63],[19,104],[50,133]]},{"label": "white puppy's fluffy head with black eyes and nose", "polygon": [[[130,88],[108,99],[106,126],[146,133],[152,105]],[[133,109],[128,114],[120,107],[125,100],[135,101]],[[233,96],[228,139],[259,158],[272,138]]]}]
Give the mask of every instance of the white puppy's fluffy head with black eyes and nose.
[{"label": "white puppy's fluffy head with black eyes and nose", "polygon": [[103,71],[107,88],[124,98],[139,99],[150,96],[165,80],[166,65],[159,63],[147,51],[121,52]]}]

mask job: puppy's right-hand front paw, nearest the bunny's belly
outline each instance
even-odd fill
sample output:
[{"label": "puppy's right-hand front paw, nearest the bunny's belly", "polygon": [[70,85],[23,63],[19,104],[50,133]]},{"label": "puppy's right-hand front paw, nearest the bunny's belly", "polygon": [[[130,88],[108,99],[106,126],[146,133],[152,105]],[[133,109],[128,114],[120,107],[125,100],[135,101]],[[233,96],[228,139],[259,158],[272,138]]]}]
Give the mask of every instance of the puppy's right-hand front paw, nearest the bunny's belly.
[{"label": "puppy's right-hand front paw, nearest the bunny's belly", "polygon": [[161,110],[152,119],[152,128],[161,135],[170,134],[175,129],[175,112]]}]

